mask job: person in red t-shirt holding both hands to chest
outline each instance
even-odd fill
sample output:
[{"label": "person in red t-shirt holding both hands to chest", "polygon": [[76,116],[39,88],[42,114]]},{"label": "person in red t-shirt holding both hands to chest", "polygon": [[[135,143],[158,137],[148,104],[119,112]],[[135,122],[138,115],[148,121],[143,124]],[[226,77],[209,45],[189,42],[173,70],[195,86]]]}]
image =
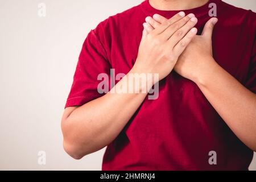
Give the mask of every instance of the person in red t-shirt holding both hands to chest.
[{"label": "person in red t-shirt holding both hands to chest", "polygon": [[[108,146],[104,170],[247,170],[255,30],[255,13],[220,0],[147,0],[110,16],[82,46],[61,125],[65,151],[81,159]],[[103,94],[98,76],[110,69],[125,77]],[[139,85],[158,84],[158,98],[112,92],[133,87],[134,73],[158,75]]]}]

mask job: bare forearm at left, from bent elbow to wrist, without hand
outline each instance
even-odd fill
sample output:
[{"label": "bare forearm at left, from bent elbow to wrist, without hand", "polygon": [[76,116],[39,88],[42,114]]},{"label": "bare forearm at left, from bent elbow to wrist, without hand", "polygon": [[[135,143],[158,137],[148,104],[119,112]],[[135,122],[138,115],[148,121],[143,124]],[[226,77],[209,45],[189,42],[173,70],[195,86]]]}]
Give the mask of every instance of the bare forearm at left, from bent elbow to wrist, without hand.
[{"label": "bare forearm at left, from bent elbow to wrist, without hand", "polygon": [[[127,84],[123,78],[112,91]],[[122,131],[146,96],[147,93],[107,93],[77,107],[63,121],[65,150],[71,155],[75,153],[75,158],[79,159],[107,146]]]}]

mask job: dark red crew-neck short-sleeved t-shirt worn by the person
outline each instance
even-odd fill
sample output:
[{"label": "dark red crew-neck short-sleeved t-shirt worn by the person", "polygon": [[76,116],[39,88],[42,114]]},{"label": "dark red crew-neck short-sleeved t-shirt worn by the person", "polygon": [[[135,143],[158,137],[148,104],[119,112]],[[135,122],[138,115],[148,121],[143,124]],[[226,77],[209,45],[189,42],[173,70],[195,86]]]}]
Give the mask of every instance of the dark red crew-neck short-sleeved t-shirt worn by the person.
[{"label": "dark red crew-neck short-sleeved t-shirt worn by the person", "polygon": [[[219,19],[213,32],[214,59],[255,93],[255,13],[210,0],[204,6],[185,10],[199,19],[199,34],[210,18],[212,2],[217,5]],[[156,10],[144,1],[98,24],[82,46],[65,107],[101,97],[97,92],[100,73],[110,76],[110,68],[115,69],[115,74],[130,71],[137,58],[146,16],[158,13],[171,18],[178,12]],[[209,164],[210,151],[216,151],[217,164]],[[246,170],[252,158],[253,151],[229,129],[197,85],[172,71],[159,82],[158,99],[146,97],[125,129],[109,144],[102,169]]]}]

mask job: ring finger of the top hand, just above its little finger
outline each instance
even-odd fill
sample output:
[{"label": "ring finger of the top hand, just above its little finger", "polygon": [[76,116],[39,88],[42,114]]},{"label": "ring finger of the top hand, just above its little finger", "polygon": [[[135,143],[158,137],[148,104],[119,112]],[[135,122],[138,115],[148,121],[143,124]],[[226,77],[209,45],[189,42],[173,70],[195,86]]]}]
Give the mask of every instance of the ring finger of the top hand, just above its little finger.
[{"label": "ring finger of the top hand, just above its little finger", "polygon": [[170,46],[174,47],[178,42],[180,42],[180,40],[184,38],[184,36],[196,25],[196,23],[197,18],[193,17],[183,27],[177,30],[168,40],[168,42],[170,42]]}]

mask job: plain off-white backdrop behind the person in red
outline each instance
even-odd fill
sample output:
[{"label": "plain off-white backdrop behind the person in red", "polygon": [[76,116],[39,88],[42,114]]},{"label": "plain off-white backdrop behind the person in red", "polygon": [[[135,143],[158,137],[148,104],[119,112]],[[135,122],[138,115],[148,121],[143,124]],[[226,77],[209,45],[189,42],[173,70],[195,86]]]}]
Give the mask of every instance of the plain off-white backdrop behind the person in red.
[{"label": "plain off-white backdrop behind the person in red", "polygon": [[[61,115],[88,32],[142,1],[0,0],[0,169],[101,169],[105,148],[81,160],[64,152]],[[256,11],[255,0],[225,2]]]}]

